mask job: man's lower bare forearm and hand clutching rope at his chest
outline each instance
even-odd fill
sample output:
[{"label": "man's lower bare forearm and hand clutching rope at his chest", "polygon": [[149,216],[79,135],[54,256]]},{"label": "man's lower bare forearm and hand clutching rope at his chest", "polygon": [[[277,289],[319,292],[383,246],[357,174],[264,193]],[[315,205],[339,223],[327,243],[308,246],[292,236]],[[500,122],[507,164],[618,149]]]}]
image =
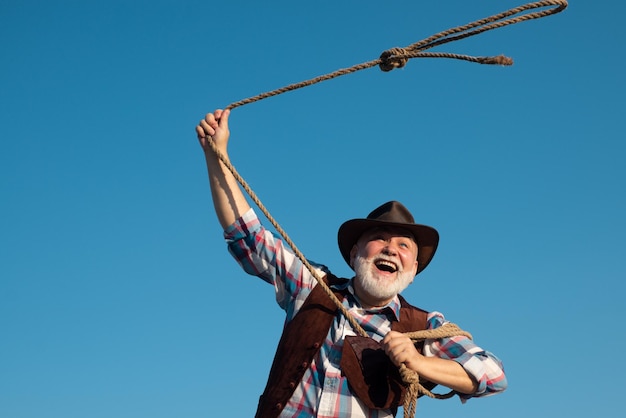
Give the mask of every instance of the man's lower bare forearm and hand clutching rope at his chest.
[{"label": "man's lower bare forearm and hand clutching rope at his chest", "polygon": [[478,388],[474,379],[459,363],[438,357],[423,356],[417,351],[413,341],[400,332],[390,331],[382,344],[396,366],[400,367],[404,364],[424,379],[468,395],[475,393]]}]

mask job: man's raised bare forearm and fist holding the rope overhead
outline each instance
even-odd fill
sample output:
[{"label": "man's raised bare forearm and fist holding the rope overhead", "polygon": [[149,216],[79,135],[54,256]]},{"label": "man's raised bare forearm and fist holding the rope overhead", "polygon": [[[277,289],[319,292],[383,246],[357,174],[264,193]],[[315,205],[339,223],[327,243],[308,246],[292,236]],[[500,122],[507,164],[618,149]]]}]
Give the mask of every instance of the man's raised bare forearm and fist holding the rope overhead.
[{"label": "man's raised bare forearm and fist holding the rope overhead", "polygon": [[226,229],[250,209],[239,183],[211,149],[208,141],[213,140],[220,152],[228,159],[228,117],[230,110],[218,109],[208,113],[196,126],[198,141],[204,150],[209,172],[209,184],[217,219]]}]

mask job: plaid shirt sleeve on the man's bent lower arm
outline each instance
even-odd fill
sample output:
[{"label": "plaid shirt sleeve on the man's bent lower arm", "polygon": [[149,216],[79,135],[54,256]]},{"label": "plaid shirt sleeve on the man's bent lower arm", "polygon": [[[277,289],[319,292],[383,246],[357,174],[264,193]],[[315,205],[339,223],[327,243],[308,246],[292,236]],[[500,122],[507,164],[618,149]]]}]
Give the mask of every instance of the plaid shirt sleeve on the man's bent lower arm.
[{"label": "plaid shirt sleeve on the man's bent lower arm", "polygon": [[[446,322],[439,312],[431,312],[428,315],[428,329],[438,328]],[[464,401],[469,398],[493,395],[507,388],[502,361],[465,336],[426,340],[424,355],[454,360],[474,378],[478,388],[472,395],[459,394]]]}]

